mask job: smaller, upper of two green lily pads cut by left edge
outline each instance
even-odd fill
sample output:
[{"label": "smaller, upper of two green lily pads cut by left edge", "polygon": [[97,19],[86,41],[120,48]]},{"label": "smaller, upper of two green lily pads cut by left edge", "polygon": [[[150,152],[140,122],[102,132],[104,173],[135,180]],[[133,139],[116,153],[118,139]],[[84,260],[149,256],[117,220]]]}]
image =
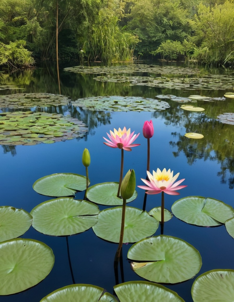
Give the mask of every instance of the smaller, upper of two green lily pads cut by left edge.
[{"label": "smaller, upper of two green lily pads cut by left edge", "polygon": [[32,224],[32,216],[23,209],[0,207],[0,241],[23,235]]}]

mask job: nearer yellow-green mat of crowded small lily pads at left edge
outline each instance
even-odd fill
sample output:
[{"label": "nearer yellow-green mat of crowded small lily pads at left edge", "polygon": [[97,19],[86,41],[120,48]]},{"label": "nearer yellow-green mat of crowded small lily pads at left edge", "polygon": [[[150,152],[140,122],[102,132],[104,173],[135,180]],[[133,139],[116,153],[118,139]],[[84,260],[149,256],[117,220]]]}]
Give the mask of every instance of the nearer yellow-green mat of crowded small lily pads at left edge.
[{"label": "nearer yellow-green mat of crowded small lily pads at left edge", "polygon": [[16,111],[0,113],[0,144],[36,145],[83,137],[82,121],[62,114]]}]

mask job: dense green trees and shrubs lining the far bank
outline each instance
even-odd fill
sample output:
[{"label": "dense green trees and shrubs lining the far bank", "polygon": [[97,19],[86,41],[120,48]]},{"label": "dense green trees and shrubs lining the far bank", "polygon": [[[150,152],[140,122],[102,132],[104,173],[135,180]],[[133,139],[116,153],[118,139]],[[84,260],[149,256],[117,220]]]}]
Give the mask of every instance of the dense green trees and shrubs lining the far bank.
[{"label": "dense green trees and shrubs lining the far bank", "polygon": [[0,67],[149,56],[234,66],[234,0],[0,2]]}]

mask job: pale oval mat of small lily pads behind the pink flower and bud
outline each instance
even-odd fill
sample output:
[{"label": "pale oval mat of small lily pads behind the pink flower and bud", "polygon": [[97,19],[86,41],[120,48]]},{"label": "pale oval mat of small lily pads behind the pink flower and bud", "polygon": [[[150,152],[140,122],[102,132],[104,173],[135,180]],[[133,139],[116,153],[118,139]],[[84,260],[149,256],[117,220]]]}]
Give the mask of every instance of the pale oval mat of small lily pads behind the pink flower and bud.
[{"label": "pale oval mat of small lily pads behind the pink flower and bud", "polygon": [[170,108],[165,101],[142,97],[98,96],[79,98],[74,106],[97,111],[157,111]]}]

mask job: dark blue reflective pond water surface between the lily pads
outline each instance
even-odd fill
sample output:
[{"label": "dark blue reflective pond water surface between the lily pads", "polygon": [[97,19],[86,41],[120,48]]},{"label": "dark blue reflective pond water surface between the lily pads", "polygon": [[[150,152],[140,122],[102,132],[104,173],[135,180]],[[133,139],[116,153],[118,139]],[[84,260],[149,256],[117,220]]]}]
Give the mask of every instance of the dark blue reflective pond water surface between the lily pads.
[{"label": "dark blue reflective pond water surface between the lily pads", "polygon": [[[60,71],[61,94],[72,99],[98,95],[133,95],[155,98],[158,94],[188,96],[191,94],[223,96],[226,91],[182,91],[147,86],[128,86],[117,83],[102,83],[93,79],[94,75],[75,74]],[[3,81],[3,80],[2,80]],[[23,87],[24,92],[58,93],[56,69],[44,67],[31,72],[12,74],[5,83],[15,83]],[[1,91],[2,94],[22,91]],[[218,114],[234,112],[233,100],[197,103],[205,108],[204,113],[182,111],[180,103],[167,100],[170,108],[161,112],[90,112],[75,108],[74,115],[84,120],[89,132],[82,139],[74,139],[54,144],[35,146],[0,146],[0,188],[1,205],[10,205],[31,211],[33,207],[49,200],[37,194],[32,184],[38,178],[59,172],[72,172],[85,175],[82,165],[82,153],[88,148],[91,155],[89,178],[91,185],[100,182],[119,181],[121,152],[103,144],[103,136],[113,128],[131,128],[140,135],[136,143],[140,146],[125,152],[124,174],[128,169],[136,172],[137,185],[142,185],[140,178],[146,176],[147,140],[142,135],[145,120],[152,119],[155,134],[151,139],[150,170],[171,169],[180,172],[179,179],[185,178],[179,197],[165,195],[165,207],[179,198],[203,196],[215,198],[233,206],[234,203],[234,126],[217,122]],[[63,111],[64,108],[53,108]],[[188,140],[186,132],[203,133],[202,140]],[[129,204],[142,208],[144,191],[137,188],[138,197]],[[160,194],[159,194],[160,195]],[[159,206],[161,196],[147,198],[146,210]],[[82,199],[83,193],[76,195]],[[105,208],[100,206],[100,209]],[[142,226],[144,227],[144,226]],[[160,234],[160,227],[155,235]],[[164,234],[181,238],[199,250],[202,268],[198,275],[212,269],[234,269],[234,240],[227,233],[224,225],[219,227],[198,227],[186,224],[173,217],[165,223]],[[66,237],[53,237],[30,229],[23,238],[37,239],[53,249],[55,264],[51,273],[35,287],[19,294],[1,296],[1,302],[39,302],[50,292],[72,284],[69,267]],[[115,285],[113,260],[117,245],[98,238],[92,229],[68,237],[70,259],[75,283],[93,284],[105,288],[110,293]],[[131,244],[123,246],[124,281],[142,280],[130,268],[127,252]],[[197,275],[197,276],[198,276]],[[181,284],[168,285],[186,302],[192,302],[191,287],[197,277]],[[122,282],[121,280],[119,281]],[[139,301],[140,302],[140,301]]]}]

